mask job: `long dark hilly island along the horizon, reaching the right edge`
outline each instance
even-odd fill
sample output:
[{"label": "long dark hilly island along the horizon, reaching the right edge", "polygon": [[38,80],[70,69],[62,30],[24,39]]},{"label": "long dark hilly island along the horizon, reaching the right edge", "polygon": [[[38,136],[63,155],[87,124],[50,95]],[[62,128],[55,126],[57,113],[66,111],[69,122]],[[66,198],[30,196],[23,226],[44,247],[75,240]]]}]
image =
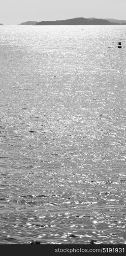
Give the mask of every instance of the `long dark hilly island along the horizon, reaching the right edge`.
[{"label": "long dark hilly island along the horizon, reaching the right edge", "polygon": [[[2,24],[1,24],[2,25]],[[64,20],[42,21],[42,22],[23,22],[19,25],[126,25],[126,20],[114,18],[71,18]]]}]

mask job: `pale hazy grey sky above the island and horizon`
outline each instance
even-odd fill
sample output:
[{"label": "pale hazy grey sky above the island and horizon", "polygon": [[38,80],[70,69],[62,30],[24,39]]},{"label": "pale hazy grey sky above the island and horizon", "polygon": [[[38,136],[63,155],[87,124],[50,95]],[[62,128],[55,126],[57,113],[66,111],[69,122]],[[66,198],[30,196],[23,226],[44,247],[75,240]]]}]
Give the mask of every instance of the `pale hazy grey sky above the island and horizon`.
[{"label": "pale hazy grey sky above the island and horizon", "polygon": [[0,0],[0,23],[74,17],[126,19],[126,0]]}]

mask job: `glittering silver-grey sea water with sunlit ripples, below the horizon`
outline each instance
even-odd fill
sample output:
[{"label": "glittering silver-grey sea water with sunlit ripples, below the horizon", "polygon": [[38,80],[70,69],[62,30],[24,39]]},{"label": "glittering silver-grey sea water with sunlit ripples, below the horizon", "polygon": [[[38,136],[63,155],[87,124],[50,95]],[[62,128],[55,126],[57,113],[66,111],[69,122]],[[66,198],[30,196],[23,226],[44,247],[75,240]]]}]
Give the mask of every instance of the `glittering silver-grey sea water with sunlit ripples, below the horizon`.
[{"label": "glittering silver-grey sea water with sunlit ripples, below the horizon", "polygon": [[1,26],[1,244],[126,243],[125,38]]}]

